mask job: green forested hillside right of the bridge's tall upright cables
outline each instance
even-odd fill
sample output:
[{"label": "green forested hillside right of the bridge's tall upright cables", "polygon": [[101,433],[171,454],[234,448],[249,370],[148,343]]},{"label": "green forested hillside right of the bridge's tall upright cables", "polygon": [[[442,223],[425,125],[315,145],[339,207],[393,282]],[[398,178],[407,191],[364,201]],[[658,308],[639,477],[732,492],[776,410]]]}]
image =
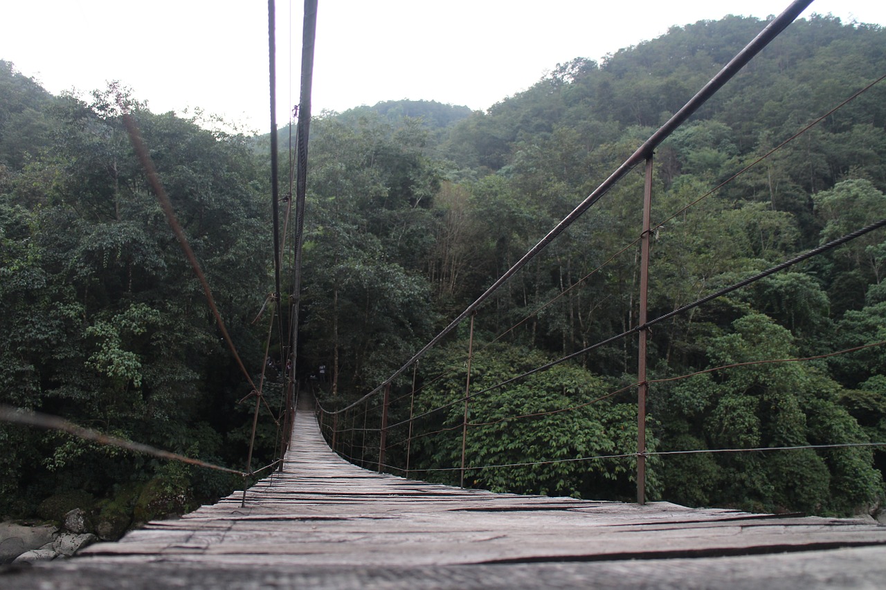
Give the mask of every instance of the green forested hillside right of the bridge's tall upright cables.
[{"label": "green forested hillside right of the bridge's tall upright cables", "polygon": [[[310,206],[323,221],[312,231],[330,230],[326,215],[348,219],[349,239],[378,244],[375,260],[390,257],[405,272],[422,276],[432,309],[441,319],[452,317],[610,175],[763,24],[738,17],[703,21],[673,27],[599,64],[577,58],[488,112],[456,122],[439,143],[432,141],[439,133],[422,120],[429,142],[423,153],[434,161],[421,165],[441,174],[432,202],[397,198],[396,182],[365,178],[359,186],[345,186],[341,175],[326,174],[331,157],[338,170],[359,162],[361,174],[369,169],[390,175],[383,162],[392,149],[385,142],[421,145],[414,135],[408,136],[412,143],[398,140],[420,129],[415,120],[372,117],[365,108],[330,114],[315,126],[312,149],[322,163],[313,179],[318,198]],[[873,82],[882,74],[883,47],[886,32],[879,27],[820,16],[798,21],[661,147],[652,221],[663,225],[653,243],[650,317],[884,217],[882,85],[675,214]],[[344,137],[350,139],[335,139]],[[330,151],[334,139],[337,147]],[[382,195],[377,205],[348,208],[347,218],[339,214],[345,199],[351,206],[376,190]],[[475,347],[498,339],[473,359],[471,391],[636,325],[638,252],[623,249],[640,233],[641,191],[641,174],[633,173],[479,310]],[[379,223],[379,215],[387,220]],[[657,325],[651,377],[882,341],[883,244],[882,231],[869,234]],[[323,256],[347,247],[324,245]],[[328,289],[313,292],[325,301],[316,307],[336,307]],[[339,387],[345,400],[377,385],[385,371],[390,374],[408,358],[386,354],[390,349],[382,343],[392,335],[380,335],[402,333],[405,324],[398,321],[416,305],[424,307],[425,299],[401,302],[398,314],[374,328],[380,355],[374,364],[385,370],[377,371],[375,381],[360,376]],[[354,314],[340,317],[351,321]],[[315,333],[340,330],[331,319],[315,320]],[[461,462],[467,348],[462,325],[457,338],[419,363],[416,412],[423,417],[413,425],[420,437],[410,446],[409,461],[422,477],[459,481],[459,470],[452,468]],[[629,385],[635,383],[636,353],[633,339],[621,340],[579,356],[568,369],[471,401],[466,462],[472,469],[466,479],[521,492],[632,497],[633,468],[625,459],[550,461],[633,451],[636,424],[629,404],[635,388]],[[323,363],[330,346],[309,354],[312,363]],[[882,346],[874,346],[819,361],[737,367],[653,384],[648,445],[677,451],[882,442],[882,354]],[[583,386],[564,384],[563,372]],[[386,462],[400,467],[407,459],[401,441],[410,389],[410,379],[401,377],[393,396],[392,422],[400,425],[390,435]],[[333,396],[330,403],[336,401],[342,400]],[[431,411],[439,406],[445,408]],[[551,413],[562,408],[578,409]],[[626,433],[613,438],[617,416]],[[377,427],[378,418],[369,423]],[[346,452],[371,455],[377,442],[366,446]],[[884,458],[882,447],[664,455],[653,461],[649,490],[652,497],[692,505],[844,514],[875,509],[881,501]],[[477,469],[509,463],[521,465]]]}]

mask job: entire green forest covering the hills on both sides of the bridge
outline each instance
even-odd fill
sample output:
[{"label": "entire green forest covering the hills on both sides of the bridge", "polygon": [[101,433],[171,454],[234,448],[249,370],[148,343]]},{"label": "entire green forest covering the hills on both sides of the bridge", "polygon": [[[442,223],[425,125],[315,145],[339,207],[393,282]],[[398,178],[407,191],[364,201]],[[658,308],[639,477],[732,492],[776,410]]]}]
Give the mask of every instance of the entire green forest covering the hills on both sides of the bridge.
[{"label": "entire green forest covering the hills on both sides of the bridge", "polygon": [[[319,395],[330,408],[384,383],[764,26],[672,27],[599,63],[557,64],[486,112],[404,100],[315,116],[299,378],[328,368]],[[650,315],[886,218],[886,85],[873,83],[883,66],[882,27],[800,19],[668,138],[653,180]],[[274,291],[268,136],[151,113],[115,83],[51,96],[0,61],[0,403],[241,469],[249,385],[138,164],[124,110],[246,367],[258,378],[265,365],[266,327],[253,320]],[[288,136],[280,129],[281,145]],[[636,325],[642,191],[637,169],[478,310],[473,388]],[[877,230],[658,324],[650,449],[802,448],[660,455],[649,498],[877,513],[886,446],[867,445],[886,441],[884,277]],[[426,470],[416,477],[458,483],[442,469],[462,453],[453,402],[464,397],[468,338],[460,326],[416,368],[416,428],[439,432],[413,443],[412,467]],[[636,357],[626,338],[478,397],[470,461],[523,465],[476,470],[466,485],[630,500],[632,457],[548,461],[636,450]],[[797,359],[809,360],[734,366]],[[397,421],[411,377],[394,384]],[[282,379],[268,379],[279,397]],[[262,421],[253,467],[277,440]],[[240,485],[54,431],[4,424],[0,444],[3,515],[54,518],[88,502],[122,531]],[[837,444],[848,446],[814,448]],[[402,449],[388,457],[403,460]]]}]

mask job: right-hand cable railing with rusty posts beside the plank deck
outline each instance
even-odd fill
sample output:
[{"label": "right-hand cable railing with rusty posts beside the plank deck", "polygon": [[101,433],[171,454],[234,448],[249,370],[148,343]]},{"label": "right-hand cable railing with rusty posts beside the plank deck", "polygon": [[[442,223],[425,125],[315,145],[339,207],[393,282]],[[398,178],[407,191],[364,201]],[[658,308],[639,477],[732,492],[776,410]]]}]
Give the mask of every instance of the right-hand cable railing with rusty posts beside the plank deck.
[{"label": "right-hand cable railing with rusty posts beside the plank deck", "polygon": [[[724,67],[714,79],[700,90],[695,97],[685,105],[680,111],[668,120],[662,128],[659,128],[649,139],[641,145],[631,157],[618,167],[602,184],[594,190],[587,198],[585,198],[579,206],[577,206],[569,215],[563,218],[554,229],[543,237],[540,242],[533,246],[525,253],[523,258],[517,261],[504,275],[496,280],[478,299],[470,306],[466,307],[461,314],[458,314],[447,327],[442,330],[435,338],[432,338],[424,347],[415,353],[400,369],[395,370],[383,384],[379,384],[375,389],[361,396],[352,403],[340,404],[340,407],[324,407],[317,406],[317,415],[321,424],[321,431],[333,448],[346,459],[361,464],[365,467],[375,470],[389,470],[400,475],[421,476],[421,474],[433,473],[449,473],[460,474],[459,479],[455,481],[465,481],[465,473],[479,472],[483,470],[501,470],[517,467],[532,467],[540,465],[556,465],[568,462],[618,462],[621,466],[619,469],[633,470],[633,479],[636,482],[637,501],[643,503],[647,497],[646,480],[645,480],[645,464],[647,460],[655,460],[657,458],[678,454],[727,454],[727,453],[766,453],[775,450],[821,450],[821,449],[839,449],[839,448],[866,448],[866,447],[882,447],[886,443],[871,441],[848,441],[838,440],[830,441],[826,444],[796,444],[796,445],[773,445],[773,446],[748,446],[746,448],[676,448],[663,450],[657,448],[656,439],[650,437],[645,431],[648,421],[645,414],[645,399],[649,393],[649,387],[658,384],[665,384],[672,381],[680,381],[690,377],[696,377],[701,374],[716,373],[739,367],[750,367],[754,365],[764,364],[786,364],[797,362],[812,362],[821,359],[835,357],[839,355],[851,354],[863,350],[868,347],[879,346],[884,343],[876,342],[873,344],[859,344],[851,348],[833,351],[814,356],[781,358],[781,359],[761,359],[758,361],[736,362],[727,365],[719,365],[701,371],[692,371],[680,376],[660,377],[650,379],[646,375],[646,362],[649,353],[646,350],[646,340],[649,336],[651,328],[657,324],[671,320],[673,318],[688,314],[697,307],[702,307],[710,303],[714,299],[727,296],[734,291],[740,291],[753,283],[757,283],[766,277],[773,276],[788,268],[792,268],[806,260],[811,260],[826,252],[830,252],[835,248],[850,243],[852,240],[865,236],[871,232],[882,229],[886,226],[886,220],[878,220],[869,223],[867,226],[856,229],[847,233],[843,237],[831,240],[827,244],[812,248],[807,252],[799,254],[781,263],[773,265],[771,268],[753,273],[742,280],[728,284],[720,289],[711,291],[710,293],[699,297],[689,303],[679,305],[664,314],[655,317],[649,317],[647,292],[649,289],[648,276],[650,254],[649,245],[653,234],[657,229],[661,229],[665,222],[671,221],[675,217],[687,213],[693,207],[709,197],[717,190],[722,189],[729,183],[734,182],[752,167],[757,166],[760,162],[770,158],[774,153],[783,149],[790,142],[802,136],[810,128],[814,127],[820,121],[826,120],[828,116],[835,111],[847,105],[856,97],[859,97],[868,89],[874,87],[875,84],[881,82],[886,76],[871,82],[866,87],[854,92],[843,102],[835,105],[832,109],[821,115],[812,123],[800,128],[796,134],[790,136],[787,140],[777,145],[773,150],[768,151],[763,156],[755,159],[750,165],[742,167],[734,175],[731,175],[725,182],[720,182],[716,187],[704,193],[700,198],[696,198],[686,206],[680,207],[675,212],[665,215],[664,221],[658,221],[655,225],[651,222],[651,178],[654,167],[653,152],[675,129],[688,120],[688,117],[695,113],[696,110],[703,105],[704,101],[713,96],[728,80],[746,65],[751,58],[762,50],[767,43],[781,33],[781,31],[789,25],[798,14],[802,12],[810,2],[795,2],[790,4],[785,12],[779,17],[773,19],[769,25],[733,58],[729,64]],[[403,378],[409,369],[415,372],[418,369],[419,361],[422,361],[425,355],[432,348],[441,345],[444,338],[447,337],[456,327],[462,326],[464,320],[478,314],[484,303],[497,291],[504,283],[514,276],[527,263],[532,260],[538,253],[551,244],[556,237],[570,227],[573,221],[585,213],[591,206],[602,198],[617,182],[626,177],[627,173],[641,162],[646,164],[646,187],[644,189],[644,206],[643,206],[643,226],[640,229],[639,237],[624,245],[617,252],[611,254],[598,268],[593,269],[587,276],[584,276],[576,283],[571,283],[563,291],[556,294],[555,297],[548,299],[547,302],[535,307],[531,314],[526,315],[519,322],[512,325],[507,330],[499,333],[494,338],[486,338],[482,342],[478,342],[478,350],[466,351],[463,357],[463,364],[451,365],[444,367],[439,371],[432,371],[419,379],[416,386],[416,379],[413,378],[411,384],[406,383]],[[615,260],[619,255],[640,245],[640,260],[637,274],[640,276],[638,281],[639,287],[639,310],[634,316],[633,324],[626,330],[614,334],[608,338],[582,347],[574,353],[563,355],[563,357],[554,361],[544,362],[523,371],[515,371],[512,375],[494,380],[490,382],[488,379],[478,379],[470,370],[470,363],[478,354],[490,353],[494,354],[495,343],[505,337],[510,332],[517,330],[521,325],[528,322],[529,319],[546,307],[553,305],[557,299],[562,298],[568,291],[579,289],[579,285],[590,281],[593,276],[598,274],[602,268],[605,268],[610,261]],[[473,338],[473,324],[469,330],[470,338]],[[533,408],[527,411],[512,412],[507,415],[501,415],[501,408],[495,408],[492,400],[495,400],[496,392],[512,390],[519,384],[525,384],[534,376],[540,373],[560,367],[568,361],[580,360],[587,358],[588,353],[604,348],[606,346],[618,344],[626,341],[627,338],[637,337],[636,350],[638,351],[638,369],[636,377],[630,383],[618,384],[611,387],[606,392],[582,392],[580,395],[572,396],[577,399],[570,400],[569,403],[561,406],[549,408]],[[460,383],[460,385],[459,385]],[[430,385],[433,384],[433,387]],[[394,390],[393,399],[391,395]],[[424,399],[424,394],[432,393],[433,399]],[[441,394],[440,392],[446,392]],[[636,396],[632,398],[631,392],[636,392]],[[384,393],[384,396],[382,395]],[[513,391],[511,391],[513,393]],[[512,397],[512,396],[511,396]],[[441,399],[442,398],[442,399]],[[418,403],[416,404],[416,400]],[[503,428],[518,422],[532,423],[532,421],[545,420],[550,416],[569,415],[578,413],[587,408],[594,408],[603,402],[611,403],[613,400],[619,402],[629,402],[633,406],[633,419],[636,423],[633,425],[632,434],[635,437],[633,448],[625,445],[624,438],[619,441],[619,447],[610,449],[610,452],[595,454],[579,454],[579,456],[557,456],[563,454],[563,448],[553,447],[548,449],[550,455],[543,460],[532,461],[510,461],[495,462],[490,461],[491,457],[476,456],[465,457],[462,450],[462,458],[459,462],[457,458],[457,448],[459,447],[458,439],[461,439],[461,448],[465,447],[465,440],[468,432],[491,431],[490,429]],[[486,404],[480,402],[486,401]],[[327,402],[329,403],[329,402]],[[463,406],[463,412],[462,412]],[[626,426],[625,423],[622,426]],[[489,433],[486,433],[488,439]],[[525,440],[528,446],[531,443]],[[422,446],[422,466],[416,467],[415,444]],[[490,443],[492,445],[492,443]],[[440,447],[447,447],[446,453],[437,452]],[[540,454],[538,449],[533,449],[534,454]],[[541,452],[543,454],[543,451]],[[454,462],[455,464],[441,464],[445,462]],[[449,478],[447,481],[454,481]]]}]

